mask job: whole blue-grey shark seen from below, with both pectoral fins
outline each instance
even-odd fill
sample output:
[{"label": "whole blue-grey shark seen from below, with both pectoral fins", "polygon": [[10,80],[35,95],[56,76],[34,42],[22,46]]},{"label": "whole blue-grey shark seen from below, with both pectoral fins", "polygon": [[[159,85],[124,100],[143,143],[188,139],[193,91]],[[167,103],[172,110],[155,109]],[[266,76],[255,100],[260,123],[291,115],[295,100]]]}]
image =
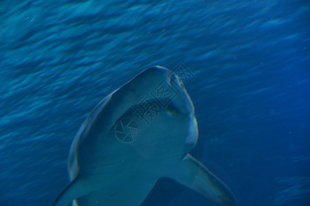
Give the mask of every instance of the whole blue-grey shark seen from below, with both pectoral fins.
[{"label": "whole blue-grey shark seen from below, with both pectoral fins", "polygon": [[217,205],[236,205],[229,187],[189,155],[197,139],[180,78],[165,67],[145,69],[85,119],[70,148],[71,182],[52,206],[141,205],[162,177]]}]

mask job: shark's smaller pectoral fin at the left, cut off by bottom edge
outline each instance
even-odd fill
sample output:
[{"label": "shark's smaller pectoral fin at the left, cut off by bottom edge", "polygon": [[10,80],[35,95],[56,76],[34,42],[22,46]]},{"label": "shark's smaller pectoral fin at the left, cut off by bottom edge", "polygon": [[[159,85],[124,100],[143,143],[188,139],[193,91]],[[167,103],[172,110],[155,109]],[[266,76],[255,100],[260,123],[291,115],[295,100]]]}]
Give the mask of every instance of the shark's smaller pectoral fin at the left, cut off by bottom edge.
[{"label": "shark's smaller pectoral fin at the left, cut off by bottom edge", "polygon": [[92,192],[87,187],[85,180],[76,177],[63,191],[57,196],[51,206],[67,206],[74,199],[84,196]]}]

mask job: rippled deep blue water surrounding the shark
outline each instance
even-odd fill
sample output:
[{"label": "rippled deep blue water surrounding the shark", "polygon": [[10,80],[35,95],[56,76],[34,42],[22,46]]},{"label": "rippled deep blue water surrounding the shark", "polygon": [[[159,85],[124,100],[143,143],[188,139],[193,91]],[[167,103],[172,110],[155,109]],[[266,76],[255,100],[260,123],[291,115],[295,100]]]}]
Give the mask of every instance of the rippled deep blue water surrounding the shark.
[{"label": "rippled deep blue water surrounding the shark", "polygon": [[[238,205],[309,205],[309,12],[307,0],[1,1],[0,205],[49,205],[92,108],[179,62],[195,76],[192,155]],[[169,179],[144,203],[208,204]]]}]

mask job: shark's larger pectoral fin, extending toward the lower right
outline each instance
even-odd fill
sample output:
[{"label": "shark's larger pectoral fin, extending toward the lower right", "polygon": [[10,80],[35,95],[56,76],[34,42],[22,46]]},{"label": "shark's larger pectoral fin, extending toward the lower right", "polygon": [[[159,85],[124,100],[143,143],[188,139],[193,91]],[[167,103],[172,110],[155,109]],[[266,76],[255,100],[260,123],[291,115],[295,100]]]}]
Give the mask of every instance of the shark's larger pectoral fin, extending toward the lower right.
[{"label": "shark's larger pectoral fin, extending toward the lower right", "polygon": [[178,183],[205,196],[213,203],[223,206],[236,205],[229,187],[212,174],[202,163],[187,155],[170,176]]}]

